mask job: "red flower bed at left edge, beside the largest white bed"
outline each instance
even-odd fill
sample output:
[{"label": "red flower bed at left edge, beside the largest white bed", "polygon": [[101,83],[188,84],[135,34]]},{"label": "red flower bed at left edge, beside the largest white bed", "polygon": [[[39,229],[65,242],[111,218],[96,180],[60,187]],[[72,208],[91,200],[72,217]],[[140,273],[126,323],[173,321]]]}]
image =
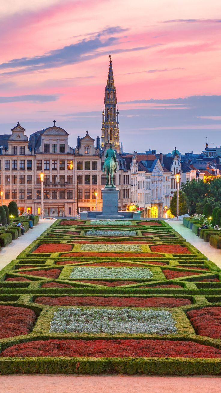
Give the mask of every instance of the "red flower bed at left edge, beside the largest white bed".
[{"label": "red flower bed at left edge, beside the largest white bed", "polygon": [[20,336],[32,331],[37,316],[24,307],[0,306],[0,338]]}]

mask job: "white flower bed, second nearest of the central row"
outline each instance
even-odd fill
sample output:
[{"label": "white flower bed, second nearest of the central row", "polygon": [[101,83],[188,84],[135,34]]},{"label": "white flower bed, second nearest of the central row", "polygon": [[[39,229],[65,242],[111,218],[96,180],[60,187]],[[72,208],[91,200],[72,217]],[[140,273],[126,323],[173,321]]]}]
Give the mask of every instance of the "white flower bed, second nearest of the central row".
[{"label": "white flower bed, second nearest of the central row", "polygon": [[129,278],[152,278],[153,273],[148,268],[105,268],[105,267],[75,267],[73,268],[70,278],[87,279],[87,278],[103,278],[103,279],[129,279]]}]

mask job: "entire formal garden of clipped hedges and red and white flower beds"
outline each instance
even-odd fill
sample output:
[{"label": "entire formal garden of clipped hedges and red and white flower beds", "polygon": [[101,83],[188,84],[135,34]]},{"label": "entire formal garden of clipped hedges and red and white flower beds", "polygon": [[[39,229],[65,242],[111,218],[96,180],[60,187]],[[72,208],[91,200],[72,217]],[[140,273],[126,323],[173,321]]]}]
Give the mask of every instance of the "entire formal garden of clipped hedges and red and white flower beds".
[{"label": "entire formal garden of clipped hedges and red and white flower beds", "polygon": [[221,269],[164,221],[57,220],[0,280],[2,374],[221,374]]}]

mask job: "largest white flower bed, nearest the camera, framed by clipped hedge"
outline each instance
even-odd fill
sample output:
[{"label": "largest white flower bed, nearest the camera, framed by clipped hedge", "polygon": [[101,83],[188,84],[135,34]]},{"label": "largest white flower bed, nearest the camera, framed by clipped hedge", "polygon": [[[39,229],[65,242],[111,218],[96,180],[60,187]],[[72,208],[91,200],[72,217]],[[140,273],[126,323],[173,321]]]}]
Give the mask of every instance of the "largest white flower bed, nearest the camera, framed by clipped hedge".
[{"label": "largest white flower bed, nearest the camera, framed by clipped hedge", "polygon": [[50,332],[171,334],[177,332],[172,314],[164,310],[59,308]]}]

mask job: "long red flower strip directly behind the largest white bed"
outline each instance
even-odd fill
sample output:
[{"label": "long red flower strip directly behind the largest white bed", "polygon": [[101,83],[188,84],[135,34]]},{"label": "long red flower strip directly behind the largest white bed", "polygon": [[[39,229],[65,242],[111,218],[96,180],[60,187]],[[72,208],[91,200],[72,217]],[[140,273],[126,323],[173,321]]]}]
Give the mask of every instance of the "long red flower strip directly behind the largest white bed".
[{"label": "long red flower strip directly behind the largest white bed", "polygon": [[182,298],[103,298],[102,296],[62,296],[50,298],[42,296],[34,303],[48,306],[110,306],[110,307],[181,307],[192,304]]}]

